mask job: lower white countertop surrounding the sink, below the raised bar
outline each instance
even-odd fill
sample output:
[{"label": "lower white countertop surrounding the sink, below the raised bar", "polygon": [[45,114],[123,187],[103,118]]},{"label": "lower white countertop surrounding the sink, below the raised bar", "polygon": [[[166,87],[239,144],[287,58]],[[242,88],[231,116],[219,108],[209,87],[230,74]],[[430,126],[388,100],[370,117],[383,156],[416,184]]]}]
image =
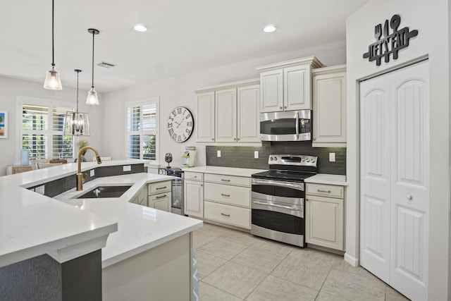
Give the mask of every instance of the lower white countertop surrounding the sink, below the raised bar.
[{"label": "lower white countertop surrounding the sink, below the raised bar", "polygon": [[[118,222],[118,231],[111,233],[102,249],[102,267],[110,266],[135,254],[149,250],[164,242],[178,238],[202,227],[202,221],[178,214],[129,203],[147,183],[171,180],[171,176],[154,173],[133,173],[123,176],[97,178],[54,197],[66,204],[99,216],[111,217]],[[97,185],[133,184],[121,197],[106,199],[73,199]]]}]

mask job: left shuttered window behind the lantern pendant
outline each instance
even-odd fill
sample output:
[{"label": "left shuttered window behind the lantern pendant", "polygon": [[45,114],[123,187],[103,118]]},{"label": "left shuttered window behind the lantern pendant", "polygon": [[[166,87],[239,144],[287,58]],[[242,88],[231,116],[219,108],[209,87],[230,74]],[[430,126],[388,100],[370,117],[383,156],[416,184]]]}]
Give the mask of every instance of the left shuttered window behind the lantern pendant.
[{"label": "left shuttered window behind the lantern pendant", "polygon": [[41,99],[27,99],[21,104],[22,149],[30,150],[31,159],[73,158],[73,136],[64,136],[64,118],[73,108],[54,106]]}]

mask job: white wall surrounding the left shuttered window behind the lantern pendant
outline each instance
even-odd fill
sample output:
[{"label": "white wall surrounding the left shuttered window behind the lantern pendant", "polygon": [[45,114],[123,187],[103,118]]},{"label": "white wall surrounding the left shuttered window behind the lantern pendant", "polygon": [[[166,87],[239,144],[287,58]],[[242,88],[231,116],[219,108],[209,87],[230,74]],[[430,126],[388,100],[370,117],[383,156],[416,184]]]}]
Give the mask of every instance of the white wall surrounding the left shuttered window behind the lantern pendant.
[{"label": "white wall surrounding the left shuttered window behind the lantern pendant", "polygon": [[[75,76],[75,73],[73,74]],[[21,120],[21,111],[17,109],[17,97],[35,97],[39,99],[57,100],[62,102],[73,102],[74,107],[77,102],[75,89],[64,87],[61,91],[46,90],[42,87],[43,83],[30,82],[26,80],[16,80],[12,78],[0,77],[0,110],[8,112],[8,138],[0,139],[0,176],[6,175],[6,166],[19,164],[20,154],[18,146],[20,145],[20,128],[17,126]],[[89,114],[89,125],[91,126],[91,136],[85,139],[89,145],[96,147],[101,154],[104,153],[101,142],[103,125],[101,113],[103,107],[103,95],[99,94],[100,106],[88,106],[85,104],[87,91],[80,90],[80,109],[79,111]],[[20,149],[20,148],[19,148]],[[89,159],[89,152],[87,153]]]}]

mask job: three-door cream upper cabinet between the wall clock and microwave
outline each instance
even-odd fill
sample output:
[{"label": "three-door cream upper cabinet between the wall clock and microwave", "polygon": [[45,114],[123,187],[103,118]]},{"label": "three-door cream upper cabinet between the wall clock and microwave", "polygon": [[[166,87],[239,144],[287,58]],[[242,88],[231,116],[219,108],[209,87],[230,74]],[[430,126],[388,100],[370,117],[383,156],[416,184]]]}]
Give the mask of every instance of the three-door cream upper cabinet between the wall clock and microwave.
[{"label": "three-door cream upper cabinet between the wall clock and microwave", "polygon": [[197,142],[260,143],[259,79],[197,93]]}]

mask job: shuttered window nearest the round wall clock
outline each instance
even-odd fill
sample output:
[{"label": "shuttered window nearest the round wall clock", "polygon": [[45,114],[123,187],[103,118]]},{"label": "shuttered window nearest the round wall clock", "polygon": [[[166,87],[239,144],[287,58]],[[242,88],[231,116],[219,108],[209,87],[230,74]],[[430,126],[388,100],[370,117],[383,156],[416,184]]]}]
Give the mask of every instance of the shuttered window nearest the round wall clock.
[{"label": "shuttered window nearest the round wall clock", "polygon": [[127,158],[158,159],[158,97],[125,104],[127,116]]}]

